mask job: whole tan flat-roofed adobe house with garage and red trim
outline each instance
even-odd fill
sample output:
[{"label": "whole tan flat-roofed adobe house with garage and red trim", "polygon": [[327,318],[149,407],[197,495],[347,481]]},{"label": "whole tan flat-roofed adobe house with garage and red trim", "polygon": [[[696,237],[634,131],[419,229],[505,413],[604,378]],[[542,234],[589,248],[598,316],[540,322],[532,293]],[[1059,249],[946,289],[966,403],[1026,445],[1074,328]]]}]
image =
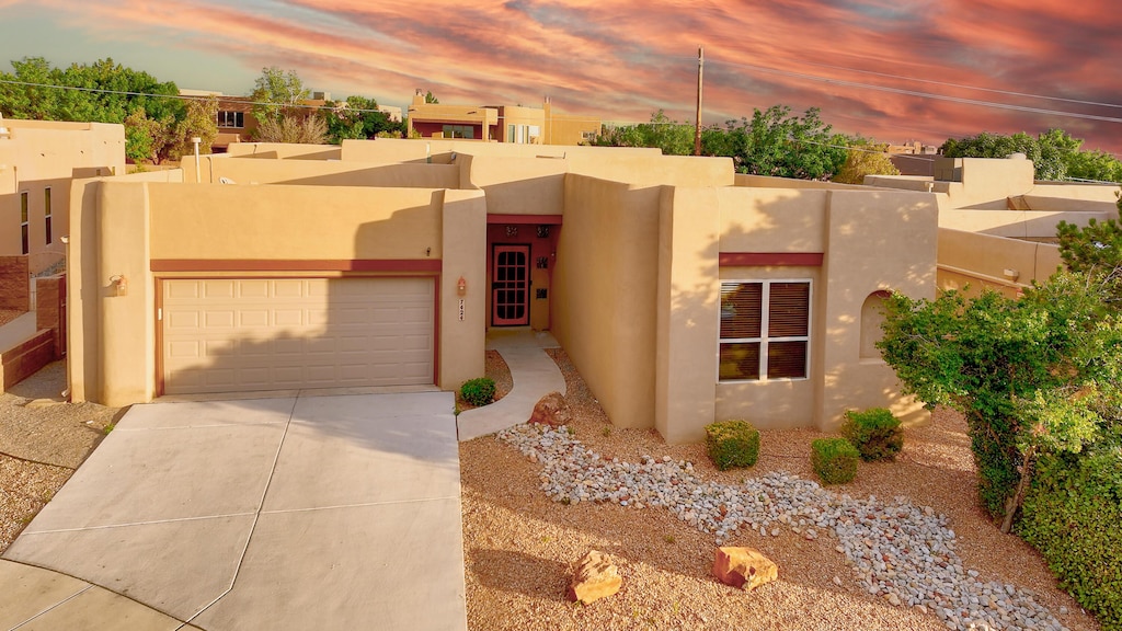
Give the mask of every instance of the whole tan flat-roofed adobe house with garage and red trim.
[{"label": "whole tan flat-roofed adobe house with garage and red trim", "polygon": [[489,329],[531,327],[613,423],[671,442],[729,418],[925,418],[873,344],[885,292],[934,296],[931,193],[739,176],[728,158],[657,149],[259,149],[75,183],[75,401],[456,390],[484,373]]}]

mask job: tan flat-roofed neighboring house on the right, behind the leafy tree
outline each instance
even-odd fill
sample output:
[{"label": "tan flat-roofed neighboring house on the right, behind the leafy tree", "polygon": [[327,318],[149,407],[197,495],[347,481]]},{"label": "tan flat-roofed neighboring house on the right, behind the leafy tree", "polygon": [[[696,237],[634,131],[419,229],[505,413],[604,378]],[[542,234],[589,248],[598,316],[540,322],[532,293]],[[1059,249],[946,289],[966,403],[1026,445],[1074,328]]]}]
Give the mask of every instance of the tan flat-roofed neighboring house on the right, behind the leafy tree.
[{"label": "tan flat-roofed neighboring house on the right, behind the leafy tree", "polygon": [[946,158],[934,176],[870,175],[865,184],[931,191],[939,204],[939,286],[1017,295],[1060,265],[1060,221],[1118,218],[1118,184],[1042,182],[1023,156]]}]

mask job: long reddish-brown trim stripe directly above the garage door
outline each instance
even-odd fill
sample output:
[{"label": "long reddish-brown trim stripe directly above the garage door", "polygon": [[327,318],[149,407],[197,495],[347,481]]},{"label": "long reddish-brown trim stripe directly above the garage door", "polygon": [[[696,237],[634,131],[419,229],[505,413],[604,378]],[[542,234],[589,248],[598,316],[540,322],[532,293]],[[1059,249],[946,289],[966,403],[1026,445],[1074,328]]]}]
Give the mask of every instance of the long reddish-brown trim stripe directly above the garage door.
[{"label": "long reddish-brown trim stripe directly above the garage door", "polygon": [[442,272],[439,258],[237,259],[154,258],[153,272]]}]

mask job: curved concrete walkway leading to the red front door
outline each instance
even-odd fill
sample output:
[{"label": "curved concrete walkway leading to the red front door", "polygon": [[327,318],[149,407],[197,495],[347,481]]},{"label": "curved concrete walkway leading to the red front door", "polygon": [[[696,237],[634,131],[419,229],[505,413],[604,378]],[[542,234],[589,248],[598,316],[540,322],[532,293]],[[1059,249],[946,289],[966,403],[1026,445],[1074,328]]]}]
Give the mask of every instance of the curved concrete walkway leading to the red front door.
[{"label": "curved concrete walkway leading to the red front door", "polygon": [[542,396],[554,391],[564,394],[564,376],[544,350],[559,346],[548,331],[491,329],[487,333],[487,349],[497,350],[506,360],[514,387],[490,405],[460,412],[456,420],[460,440],[524,423]]}]

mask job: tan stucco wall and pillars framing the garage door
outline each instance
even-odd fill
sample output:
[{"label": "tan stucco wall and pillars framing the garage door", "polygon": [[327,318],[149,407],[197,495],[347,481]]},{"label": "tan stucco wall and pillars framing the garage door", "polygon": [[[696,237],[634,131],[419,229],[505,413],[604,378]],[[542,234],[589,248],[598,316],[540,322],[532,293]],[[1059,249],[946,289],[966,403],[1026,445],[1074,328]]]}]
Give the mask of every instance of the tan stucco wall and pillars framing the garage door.
[{"label": "tan stucco wall and pillars framing the garage door", "polygon": [[[469,291],[459,319],[456,278],[482,287],[486,207],[476,191],[239,186],[94,182],[75,209],[84,241],[73,253],[92,265],[77,272],[73,318],[74,399],[108,405],[149,401],[155,394],[155,274],[151,260],[275,262],[258,275],[338,276],[285,272],[285,262],[442,259],[439,385],[456,387],[482,373],[485,292]],[[91,194],[92,193],[92,194]],[[325,220],[330,218],[330,221]],[[111,226],[111,229],[105,227]],[[76,240],[76,241],[77,241]],[[92,247],[91,247],[92,246]],[[221,264],[205,275],[245,276]],[[90,275],[90,271],[95,271]],[[129,278],[113,295],[110,276]],[[173,274],[165,274],[173,275]],[[197,276],[183,272],[180,276]],[[82,289],[84,287],[84,289]],[[91,317],[94,316],[94,317]],[[98,340],[102,340],[101,344]]]}]

